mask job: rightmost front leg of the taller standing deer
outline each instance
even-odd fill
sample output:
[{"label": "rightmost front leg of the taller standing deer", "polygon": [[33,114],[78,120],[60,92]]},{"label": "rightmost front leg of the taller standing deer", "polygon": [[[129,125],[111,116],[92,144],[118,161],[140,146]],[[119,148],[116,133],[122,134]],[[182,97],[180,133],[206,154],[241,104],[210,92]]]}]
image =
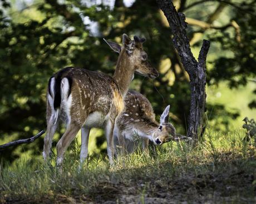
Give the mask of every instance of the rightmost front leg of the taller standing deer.
[{"label": "rightmost front leg of the taller standing deer", "polygon": [[107,155],[109,155],[110,165],[114,165],[115,147],[113,140],[115,121],[108,120],[105,126],[106,139],[107,139]]}]

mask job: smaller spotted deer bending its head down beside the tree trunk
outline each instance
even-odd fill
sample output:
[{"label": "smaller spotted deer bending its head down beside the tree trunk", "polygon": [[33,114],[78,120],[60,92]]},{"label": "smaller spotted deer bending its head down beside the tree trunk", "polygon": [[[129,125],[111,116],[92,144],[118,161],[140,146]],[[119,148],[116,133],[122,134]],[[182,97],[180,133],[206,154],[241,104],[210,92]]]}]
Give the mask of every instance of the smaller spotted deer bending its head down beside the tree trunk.
[{"label": "smaller spotted deer bending its head down beside the tree trunk", "polygon": [[116,119],[115,150],[120,151],[121,155],[134,152],[139,145],[136,134],[139,135],[145,152],[149,152],[149,140],[155,145],[162,145],[171,140],[176,142],[191,140],[191,137],[176,134],[174,126],[169,123],[169,109],[170,105],[165,108],[159,124],[155,121],[149,100],[136,91],[128,91],[125,97],[125,109]]}]

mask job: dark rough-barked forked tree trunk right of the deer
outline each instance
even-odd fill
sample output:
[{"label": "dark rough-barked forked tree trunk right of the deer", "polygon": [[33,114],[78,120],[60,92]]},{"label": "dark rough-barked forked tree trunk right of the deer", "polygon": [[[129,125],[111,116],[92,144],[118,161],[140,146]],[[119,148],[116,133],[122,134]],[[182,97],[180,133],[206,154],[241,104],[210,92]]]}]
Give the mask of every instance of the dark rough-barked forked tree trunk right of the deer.
[{"label": "dark rough-barked forked tree trunk right of the deer", "polygon": [[188,25],[185,22],[185,15],[183,13],[177,13],[173,2],[170,0],[157,0],[157,3],[169,22],[174,36],[174,46],[180,55],[184,69],[189,74],[191,99],[187,136],[193,137],[193,139],[196,140],[198,139],[198,136],[203,133],[203,118],[204,112],[206,111],[205,62],[206,55],[210,48],[210,42],[208,40],[203,40],[203,46],[201,47],[197,62],[191,53],[189,38],[186,34]]}]

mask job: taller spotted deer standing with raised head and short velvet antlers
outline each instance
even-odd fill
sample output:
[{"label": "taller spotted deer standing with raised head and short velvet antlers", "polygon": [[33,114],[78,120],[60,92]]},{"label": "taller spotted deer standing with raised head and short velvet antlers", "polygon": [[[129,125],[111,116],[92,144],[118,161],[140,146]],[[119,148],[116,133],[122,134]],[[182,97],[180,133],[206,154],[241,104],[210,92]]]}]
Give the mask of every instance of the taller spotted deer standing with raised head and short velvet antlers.
[{"label": "taller spotted deer standing with raised head and short velvet antlers", "polygon": [[63,120],[67,128],[57,143],[57,166],[60,171],[62,171],[65,151],[80,129],[81,162],[85,160],[88,155],[88,136],[92,127],[104,127],[107,154],[112,165],[115,154],[113,142],[115,120],[124,108],[124,98],[134,73],[151,79],[159,75],[142,49],[145,40],[136,35],[134,40],[131,40],[126,34],[122,36],[122,46],[105,40],[115,52],[119,53],[113,77],[105,73],[67,67],[50,78],[46,94],[47,134],[43,146],[45,161],[49,157],[52,137],[58,122]]}]

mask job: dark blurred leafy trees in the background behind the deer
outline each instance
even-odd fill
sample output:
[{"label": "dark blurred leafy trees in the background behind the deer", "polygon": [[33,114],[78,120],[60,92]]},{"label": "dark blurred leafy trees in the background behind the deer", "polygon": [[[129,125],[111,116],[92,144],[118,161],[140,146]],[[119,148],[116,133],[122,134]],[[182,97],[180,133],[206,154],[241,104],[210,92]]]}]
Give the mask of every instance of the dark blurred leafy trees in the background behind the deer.
[{"label": "dark blurred leafy trees in the background behind the deer", "polygon": [[[113,74],[117,55],[102,38],[121,43],[123,33],[147,39],[145,51],[160,72],[154,81],[136,75],[130,89],[147,96],[157,116],[163,111],[161,107],[170,104],[176,129],[186,134],[189,78],[156,1],[136,0],[130,7],[122,0],[112,4],[96,4],[93,0],[1,2],[1,141],[26,139],[46,128],[45,90],[48,79],[57,70],[75,66]],[[255,77],[255,1],[173,2],[189,23],[187,33],[193,49],[201,47],[202,38],[211,42],[210,53],[215,55],[206,64],[208,85],[225,80],[230,88],[237,88]],[[251,101],[250,107],[255,104]],[[209,111],[213,105],[206,104]],[[239,113],[214,105],[211,119],[218,114],[235,118]],[[100,145],[104,136],[97,141]],[[40,138],[24,145],[24,150],[34,149],[40,155],[42,147]],[[0,156],[12,161],[19,156],[14,150],[17,152],[17,146],[0,151]]]}]

